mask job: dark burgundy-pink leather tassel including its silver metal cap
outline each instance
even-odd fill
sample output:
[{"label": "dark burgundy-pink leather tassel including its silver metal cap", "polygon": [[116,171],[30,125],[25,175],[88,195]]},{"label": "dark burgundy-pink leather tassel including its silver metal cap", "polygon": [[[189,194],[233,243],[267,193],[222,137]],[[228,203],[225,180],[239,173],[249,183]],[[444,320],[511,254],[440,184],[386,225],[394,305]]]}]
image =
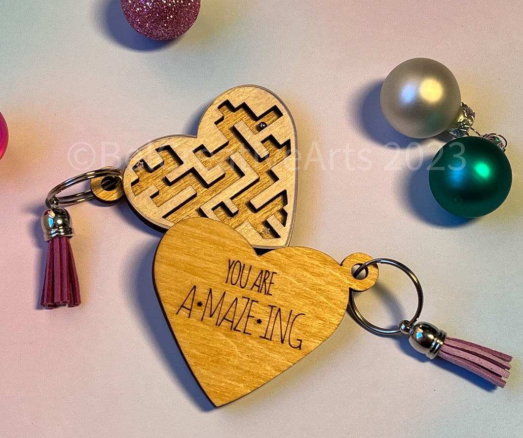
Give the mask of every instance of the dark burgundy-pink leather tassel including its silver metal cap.
[{"label": "dark burgundy-pink leather tassel including its silver metal cap", "polygon": [[46,276],[43,280],[40,305],[53,309],[81,303],[78,275],[69,239],[74,236],[71,217],[63,208],[51,208],[42,217],[44,237],[49,242]]}]

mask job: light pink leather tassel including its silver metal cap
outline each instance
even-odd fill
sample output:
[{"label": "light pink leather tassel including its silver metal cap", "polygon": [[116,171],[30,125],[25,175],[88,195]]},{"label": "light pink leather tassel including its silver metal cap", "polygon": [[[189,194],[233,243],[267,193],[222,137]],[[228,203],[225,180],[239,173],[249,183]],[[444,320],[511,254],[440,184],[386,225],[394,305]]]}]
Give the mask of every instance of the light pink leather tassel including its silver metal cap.
[{"label": "light pink leather tassel including its silver metal cap", "polygon": [[428,358],[445,359],[496,386],[505,386],[504,379],[510,374],[509,362],[512,360],[508,354],[462,339],[449,338],[443,330],[425,322],[410,326],[404,321],[400,329],[402,333],[410,335],[408,341],[414,349]]}]

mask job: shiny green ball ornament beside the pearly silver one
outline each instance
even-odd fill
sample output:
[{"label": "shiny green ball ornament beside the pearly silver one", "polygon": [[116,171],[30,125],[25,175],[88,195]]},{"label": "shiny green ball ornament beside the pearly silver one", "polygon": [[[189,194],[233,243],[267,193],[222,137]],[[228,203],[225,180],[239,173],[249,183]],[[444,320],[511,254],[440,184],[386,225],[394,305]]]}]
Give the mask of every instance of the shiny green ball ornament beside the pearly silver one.
[{"label": "shiny green ball ornament beside the pearly silver one", "polygon": [[429,168],[430,190],[453,215],[475,218],[503,204],[512,184],[505,153],[481,137],[449,141]]}]

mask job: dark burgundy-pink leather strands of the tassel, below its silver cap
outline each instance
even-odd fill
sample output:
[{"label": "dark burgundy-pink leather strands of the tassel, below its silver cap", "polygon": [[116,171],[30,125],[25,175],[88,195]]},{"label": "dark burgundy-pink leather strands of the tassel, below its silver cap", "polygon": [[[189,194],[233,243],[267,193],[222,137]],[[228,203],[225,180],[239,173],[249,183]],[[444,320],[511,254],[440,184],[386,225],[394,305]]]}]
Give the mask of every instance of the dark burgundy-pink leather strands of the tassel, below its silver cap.
[{"label": "dark burgundy-pink leather strands of the tassel, below its silver cap", "polygon": [[58,304],[73,307],[80,302],[78,276],[69,238],[61,236],[51,239],[40,305],[52,309]]}]

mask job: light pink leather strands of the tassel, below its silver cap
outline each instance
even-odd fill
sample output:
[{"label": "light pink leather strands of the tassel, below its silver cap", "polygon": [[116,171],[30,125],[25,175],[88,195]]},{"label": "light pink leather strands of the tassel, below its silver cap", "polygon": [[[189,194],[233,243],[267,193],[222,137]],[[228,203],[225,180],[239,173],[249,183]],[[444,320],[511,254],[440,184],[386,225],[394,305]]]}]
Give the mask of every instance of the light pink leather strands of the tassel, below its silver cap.
[{"label": "light pink leather strands of the tassel, below its silver cap", "polygon": [[511,356],[461,339],[445,338],[438,357],[459,365],[483,377],[496,386],[504,387],[510,370]]}]

